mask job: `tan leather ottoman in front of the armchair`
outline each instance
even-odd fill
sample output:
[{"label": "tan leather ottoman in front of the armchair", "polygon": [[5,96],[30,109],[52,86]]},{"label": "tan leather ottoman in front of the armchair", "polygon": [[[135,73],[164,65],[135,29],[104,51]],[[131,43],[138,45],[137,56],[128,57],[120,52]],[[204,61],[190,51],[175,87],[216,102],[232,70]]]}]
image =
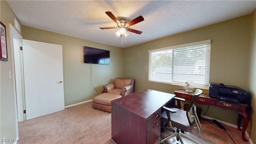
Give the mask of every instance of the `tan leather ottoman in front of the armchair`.
[{"label": "tan leather ottoman in front of the armchair", "polygon": [[100,94],[92,99],[92,107],[111,113],[111,101],[121,97],[122,96],[118,94]]}]

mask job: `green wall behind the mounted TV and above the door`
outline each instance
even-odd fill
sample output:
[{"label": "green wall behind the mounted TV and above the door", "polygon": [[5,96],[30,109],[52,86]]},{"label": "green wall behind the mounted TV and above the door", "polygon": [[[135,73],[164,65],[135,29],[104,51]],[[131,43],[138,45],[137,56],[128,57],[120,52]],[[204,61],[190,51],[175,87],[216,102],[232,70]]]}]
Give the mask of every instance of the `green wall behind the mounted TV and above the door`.
[{"label": "green wall behind the mounted TV and above the door", "polygon": [[[28,26],[22,26],[22,30],[24,39],[62,45],[65,106],[92,100],[104,90],[104,84],[114,82],[116,77],[124,76],[123,48]],[[110,50],[110,65],[84,64],[83,46]],[[91,84],[90,66],[92,66],[92,84],[97,90],[96,94]]]}]

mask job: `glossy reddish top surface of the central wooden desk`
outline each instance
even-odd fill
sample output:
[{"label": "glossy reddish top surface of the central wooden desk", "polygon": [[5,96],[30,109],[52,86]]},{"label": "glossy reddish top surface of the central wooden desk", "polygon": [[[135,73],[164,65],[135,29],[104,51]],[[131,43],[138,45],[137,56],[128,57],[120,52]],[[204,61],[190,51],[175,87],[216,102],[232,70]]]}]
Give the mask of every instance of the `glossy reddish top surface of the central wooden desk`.
[{"label": "glossy reddish top surface of the central wooden desk", "polygon": [[146,89],[112,100],[112,103],[147,119],[174,96],[175,94]]}]

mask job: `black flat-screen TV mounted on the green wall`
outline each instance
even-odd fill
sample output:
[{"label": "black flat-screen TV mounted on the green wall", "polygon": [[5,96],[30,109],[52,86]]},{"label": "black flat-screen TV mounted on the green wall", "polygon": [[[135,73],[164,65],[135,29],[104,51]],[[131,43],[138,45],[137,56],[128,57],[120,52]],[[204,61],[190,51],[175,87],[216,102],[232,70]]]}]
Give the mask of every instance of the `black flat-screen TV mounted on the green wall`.
[{"label": "black flat-screen TV mounted on the green wall", "polygon": [[84,63],[110,64],[110,51],[84,46]]}]

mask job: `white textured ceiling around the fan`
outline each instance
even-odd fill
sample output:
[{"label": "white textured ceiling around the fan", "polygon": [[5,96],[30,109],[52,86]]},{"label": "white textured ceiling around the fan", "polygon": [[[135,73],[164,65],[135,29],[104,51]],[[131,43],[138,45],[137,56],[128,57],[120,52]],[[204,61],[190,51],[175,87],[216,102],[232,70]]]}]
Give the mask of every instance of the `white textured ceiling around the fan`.
[{"label": "white textured ceiling around the fan", "polygon": [[[22,25],[121,48],[251,14],[256,8],[255,0],[10,0],[7,3]],[[144,21],[130,26],[142,34],[129,32],[122,44],[122,37],[115,34],[118,29],[100,29],[116,26],[106,11],[127,22],[143,16]]]}]

